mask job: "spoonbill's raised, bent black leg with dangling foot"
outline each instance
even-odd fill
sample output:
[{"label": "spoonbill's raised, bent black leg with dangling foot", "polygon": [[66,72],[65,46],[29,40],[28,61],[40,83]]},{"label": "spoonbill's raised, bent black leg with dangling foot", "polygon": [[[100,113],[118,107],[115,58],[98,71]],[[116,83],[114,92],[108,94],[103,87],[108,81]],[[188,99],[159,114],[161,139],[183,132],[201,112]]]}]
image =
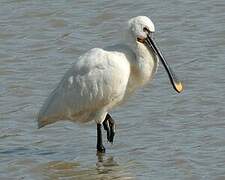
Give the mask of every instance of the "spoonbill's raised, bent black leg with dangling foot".
[{"label": "spoonbill's raised, bent black leg with dangling foot", "polygon": [[107,132],[108,141],[113,143],[115,135],[115,121],[109,114],[106,115],[105,120],[103,121],[103,127]]}]

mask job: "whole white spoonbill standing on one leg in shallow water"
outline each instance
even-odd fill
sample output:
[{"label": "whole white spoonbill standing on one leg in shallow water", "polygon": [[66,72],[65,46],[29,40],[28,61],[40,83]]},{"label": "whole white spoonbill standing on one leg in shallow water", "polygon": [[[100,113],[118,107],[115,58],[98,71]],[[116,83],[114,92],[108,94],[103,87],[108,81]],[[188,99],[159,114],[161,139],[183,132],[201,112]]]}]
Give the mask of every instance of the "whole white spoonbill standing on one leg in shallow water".
[{"label": "whole white spoonbill standing on one leg in shallow water", "polygon": [[138,16],[125,26],[122,44],[91,49],[66,72],[39,112],[39,128],[60,120],[82,123],[94,120],[97,151],[104,153],[102,124],[109,142],[113,142],[115,134],[115,123],[108,112],[153,78],[158,59],[174,89],[183,90],[152,38],[153,22],[146,16]]}]

